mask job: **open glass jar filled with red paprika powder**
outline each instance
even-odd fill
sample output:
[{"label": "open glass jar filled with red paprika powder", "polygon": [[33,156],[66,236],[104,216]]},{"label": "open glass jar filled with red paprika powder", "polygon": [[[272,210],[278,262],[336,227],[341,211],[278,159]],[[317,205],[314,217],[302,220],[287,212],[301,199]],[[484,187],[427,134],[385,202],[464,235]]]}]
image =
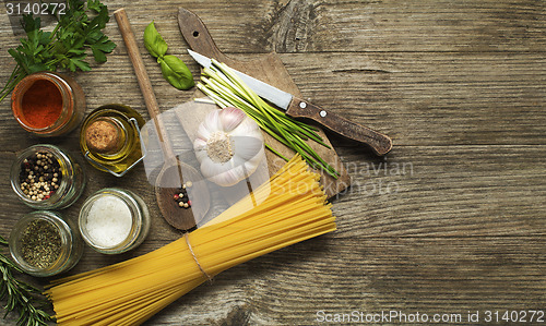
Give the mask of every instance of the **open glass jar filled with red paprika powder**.
[{"label": "open glass jar filled with red paprika powder", "polygon": [[84,118],[85,95],[68,75],[37,72],[13,89],[11,108],[19,124],[43,137],[64,135]]}]

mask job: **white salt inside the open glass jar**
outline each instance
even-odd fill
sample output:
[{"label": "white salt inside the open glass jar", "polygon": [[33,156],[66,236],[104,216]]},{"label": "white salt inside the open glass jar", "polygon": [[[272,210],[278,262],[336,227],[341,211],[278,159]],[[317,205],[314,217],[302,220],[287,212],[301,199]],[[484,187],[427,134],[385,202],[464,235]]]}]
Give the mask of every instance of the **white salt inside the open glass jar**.
[{"label": "white salt inside the open glass jar", "polygon": [[86,229],[96,245],[112,247],[127,239],[131,231],[131,210],[114,195],[97,198],[87,215]]}]

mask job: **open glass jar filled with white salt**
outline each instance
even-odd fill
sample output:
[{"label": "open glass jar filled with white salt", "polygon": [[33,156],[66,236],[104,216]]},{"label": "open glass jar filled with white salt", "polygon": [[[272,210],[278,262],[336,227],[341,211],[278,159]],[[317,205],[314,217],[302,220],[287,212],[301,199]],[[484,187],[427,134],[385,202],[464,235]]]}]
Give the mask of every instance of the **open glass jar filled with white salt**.
[{"label": "open glass jar filled with white salt", "polygon": [[135,193],[106,188],[85,201],[79,227],[83,240],[95,251],[119,254],[144,241],[150,230],[150,213]]}]

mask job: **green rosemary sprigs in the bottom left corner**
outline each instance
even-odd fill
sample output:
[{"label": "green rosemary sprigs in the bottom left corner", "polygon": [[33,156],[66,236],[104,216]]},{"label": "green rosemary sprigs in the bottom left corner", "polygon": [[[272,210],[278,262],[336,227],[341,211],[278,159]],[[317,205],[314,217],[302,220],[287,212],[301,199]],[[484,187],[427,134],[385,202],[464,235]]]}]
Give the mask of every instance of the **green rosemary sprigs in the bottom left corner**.
[{"label": "green rosemary sprigs in the bottom left corner", "polygon": [[[8,241],[0,236],[0,244]],[[19,312],[17,325],[45,326],[51,316],[45,311],[50,305],[41,291],[15,278],[14,273],[23,273],[19,266],[0,253],[0,300],[7,300],[4,318],[10,312]]]}]

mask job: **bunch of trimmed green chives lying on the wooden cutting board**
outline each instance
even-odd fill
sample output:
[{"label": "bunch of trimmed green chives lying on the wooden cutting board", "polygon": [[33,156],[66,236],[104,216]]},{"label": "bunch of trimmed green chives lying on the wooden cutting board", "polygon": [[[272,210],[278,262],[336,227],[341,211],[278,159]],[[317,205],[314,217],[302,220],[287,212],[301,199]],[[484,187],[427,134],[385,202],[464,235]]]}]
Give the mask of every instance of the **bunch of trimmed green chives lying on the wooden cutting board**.
[{"label": "bunch of trimmed green chives lying on the wooden cutting board", "polygon": [[[252,118],[260,128],[283,145],[301,155],[312,168],[322,168],[330,176],[337,179],[337,172],[324,161],[305,141],[312,140],[318,144],[331,148],[317,133],[318,129],[301,121],[296,121],[283,111],[273,108],[250,89],[234,71],[224,63],[212,60],[211,68],[203,70],[198,88],[209,96],[221,108],[236,107]],[[288,160],[265,144],[271,152]]]}]

